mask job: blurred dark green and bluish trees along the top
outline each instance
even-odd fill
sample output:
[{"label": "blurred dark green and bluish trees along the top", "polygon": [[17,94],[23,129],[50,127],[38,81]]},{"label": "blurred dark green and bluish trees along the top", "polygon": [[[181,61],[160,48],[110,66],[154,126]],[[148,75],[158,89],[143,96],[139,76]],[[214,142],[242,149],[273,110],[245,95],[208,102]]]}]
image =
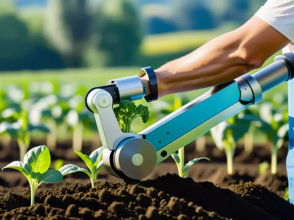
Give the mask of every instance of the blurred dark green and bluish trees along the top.
[{"label": "blurred dark green and bluish trees along the top", "polygon": [[1,1],[0,71],[138,65],[145,35],[240,26],[265,1],[48,0],[39,13]]}]

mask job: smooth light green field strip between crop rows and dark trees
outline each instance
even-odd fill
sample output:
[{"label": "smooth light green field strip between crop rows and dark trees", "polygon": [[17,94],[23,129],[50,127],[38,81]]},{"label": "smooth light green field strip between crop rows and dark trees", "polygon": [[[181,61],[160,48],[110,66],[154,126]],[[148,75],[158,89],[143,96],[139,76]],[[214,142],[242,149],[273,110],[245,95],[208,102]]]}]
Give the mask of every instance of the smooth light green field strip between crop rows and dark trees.
[{"label": "smooth light green field strip between crop rows and dark trees", "polygon": [[[273,62],[276,55],[281,54],[281,51],[270,57],[261,68]],[[261,69],[260,68],[260,69]],[[20,71],[20,72],[1,72],[0,73],[0,88],[4,88],[9,84],[27,85],[32,81],[51,81],[64,83],[84,84],[89,89],[105,85],[109,80],[138,75],[141,67],[132,68],[104,68],[104,69],[65,69],[65,70],[43,70],[43,71]],[[258,71],[254,70],[250,74]],[[192,100],[206,92],[208,89],[200,89],[196,91],[186,92],[185,94]],[[278,87],[266,92],[263,97],[272,96],[276,92],[287,93],[288,84],[283,83]],[[163,99],[168,99],[164,97]]]}]

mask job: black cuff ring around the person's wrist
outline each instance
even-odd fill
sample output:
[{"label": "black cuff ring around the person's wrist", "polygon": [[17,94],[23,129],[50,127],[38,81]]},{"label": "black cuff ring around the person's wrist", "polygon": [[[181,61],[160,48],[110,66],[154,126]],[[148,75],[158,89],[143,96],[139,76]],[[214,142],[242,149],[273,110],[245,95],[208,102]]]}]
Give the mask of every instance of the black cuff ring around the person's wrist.
[{"label": "black cuff ring around the person's wrist", "polygon": [[139,77],[148,75],[150,83],[150,95],[145,96],[147,102],[151,102],[158,99],[158,87],[157,87],[157,78],[154,70],[151,67],[143,67],[140,71]]}]

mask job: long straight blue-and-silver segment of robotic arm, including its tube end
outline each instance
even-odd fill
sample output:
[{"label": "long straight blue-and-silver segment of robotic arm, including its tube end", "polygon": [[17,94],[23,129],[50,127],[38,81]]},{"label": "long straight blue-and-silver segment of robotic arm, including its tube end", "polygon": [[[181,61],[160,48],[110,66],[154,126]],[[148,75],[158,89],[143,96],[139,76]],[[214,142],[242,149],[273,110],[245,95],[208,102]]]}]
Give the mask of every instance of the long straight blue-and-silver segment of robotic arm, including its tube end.
[{"label": "long straight blue-and-silver segment of robotic arm, including its tube end", "polygon": [[252,76],[245,74],[215,87],[157,123],[141,131],[152,143],[161,163],[181,147],[191,143],[222,121],[261,101],[262,93],[294,76],[294,55],[278,56],[275,62]]}]

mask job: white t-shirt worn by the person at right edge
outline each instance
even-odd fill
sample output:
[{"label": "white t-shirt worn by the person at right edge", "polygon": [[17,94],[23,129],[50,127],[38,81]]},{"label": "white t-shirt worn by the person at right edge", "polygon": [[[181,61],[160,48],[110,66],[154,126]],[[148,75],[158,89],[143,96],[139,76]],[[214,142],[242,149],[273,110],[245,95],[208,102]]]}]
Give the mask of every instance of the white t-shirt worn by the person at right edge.
[{"label": "white t-shirt worn by the person at right edge", "polygon": [[[268,0],[255,15],[292,42],[283,48],[283,53],[294,53],[294,0]],[[294,117],[294,79],[288,81],[288,111],[289,116]],[[289,136],[292,135],[290,130]]]}]

